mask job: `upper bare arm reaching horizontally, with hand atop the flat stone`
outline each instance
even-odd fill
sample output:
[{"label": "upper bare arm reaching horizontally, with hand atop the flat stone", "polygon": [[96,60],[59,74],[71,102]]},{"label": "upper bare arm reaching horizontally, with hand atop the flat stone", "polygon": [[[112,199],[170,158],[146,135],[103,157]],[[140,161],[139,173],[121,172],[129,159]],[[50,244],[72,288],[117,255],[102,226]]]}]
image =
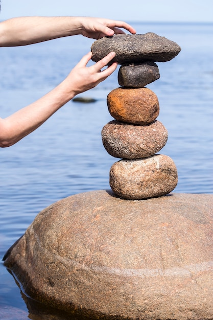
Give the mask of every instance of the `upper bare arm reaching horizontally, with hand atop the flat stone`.
[{"label": "upper bare arm reaching horizontally, with hand atop the flat stone", "polygon": [[136,33],[124,21],[90,17],[17,17],[0,22],[0,47],[27,45],[77,34],[99,39],[124,28]]}]

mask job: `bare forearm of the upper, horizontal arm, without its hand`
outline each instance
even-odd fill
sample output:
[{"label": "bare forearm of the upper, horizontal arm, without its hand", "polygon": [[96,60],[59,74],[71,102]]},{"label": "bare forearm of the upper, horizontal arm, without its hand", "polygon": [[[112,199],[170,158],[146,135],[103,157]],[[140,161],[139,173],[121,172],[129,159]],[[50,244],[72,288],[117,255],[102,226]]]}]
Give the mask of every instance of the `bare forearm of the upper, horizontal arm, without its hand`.
[{"label": "bare forearm of the upper, horizontal arm, without its hand", "polygon": [[81,33],[79,17],[17,17],[0,23],[0,47],[32,44]]}]

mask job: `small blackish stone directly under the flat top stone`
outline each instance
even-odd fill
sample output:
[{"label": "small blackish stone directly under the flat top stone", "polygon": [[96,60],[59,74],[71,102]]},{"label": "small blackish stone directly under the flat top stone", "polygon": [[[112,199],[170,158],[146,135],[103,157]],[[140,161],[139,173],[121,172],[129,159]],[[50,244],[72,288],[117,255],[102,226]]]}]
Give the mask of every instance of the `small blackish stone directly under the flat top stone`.
[{"label": "small blackish stone directly under the flat top stone", "polygon": [[143,88],[159,78],[158,66],[152,61],[123,64],[118,74],[120,85],[134,88]]}]

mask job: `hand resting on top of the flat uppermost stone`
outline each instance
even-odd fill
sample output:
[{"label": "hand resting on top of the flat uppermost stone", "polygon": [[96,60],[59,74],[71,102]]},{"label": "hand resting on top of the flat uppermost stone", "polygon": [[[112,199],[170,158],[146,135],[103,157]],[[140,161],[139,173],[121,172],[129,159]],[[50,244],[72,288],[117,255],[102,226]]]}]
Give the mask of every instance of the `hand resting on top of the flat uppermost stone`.
[{"label": "hand resting on top of the flat uppermost stone", "polygon": [[112,36],[113,34],[125,33],[122,29],[128,30],[135,34],[135,29],[124,21],[104,19],[104,18],[81,18],[82,32],[85,37],[92,39],[100,39],[104,36]]}]

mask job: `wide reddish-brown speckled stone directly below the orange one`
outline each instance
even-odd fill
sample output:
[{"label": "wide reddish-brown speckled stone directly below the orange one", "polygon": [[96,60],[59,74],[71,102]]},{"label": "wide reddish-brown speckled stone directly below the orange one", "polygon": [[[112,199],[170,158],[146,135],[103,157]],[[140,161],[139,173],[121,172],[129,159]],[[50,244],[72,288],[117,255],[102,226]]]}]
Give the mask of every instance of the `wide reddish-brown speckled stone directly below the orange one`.
[{"label": "wide reddish-brown speckled stone directly below the orange one", "polygon": [[167,139],[167,129],[157,120],[146,126],[112,120],[102,129],[103,145],[115,158],[148,157],[162,149]]}]

